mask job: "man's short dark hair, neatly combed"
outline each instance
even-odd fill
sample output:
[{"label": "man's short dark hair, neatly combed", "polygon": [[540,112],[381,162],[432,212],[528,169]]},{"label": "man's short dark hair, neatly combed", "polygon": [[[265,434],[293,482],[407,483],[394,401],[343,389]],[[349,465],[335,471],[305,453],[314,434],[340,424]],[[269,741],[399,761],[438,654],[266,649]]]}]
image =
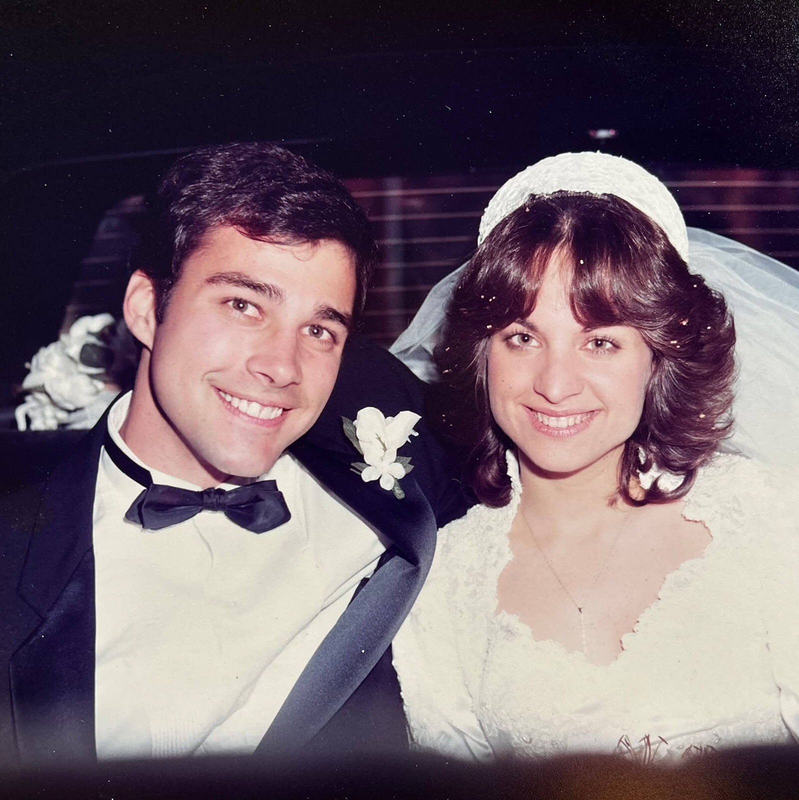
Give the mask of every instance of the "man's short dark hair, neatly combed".
[{"label": "man's short dark hair, neatly combed", "polygon": [[183,263],[216,226],[276,244],[340,242],[354,260],[356,318],[363,308],[378,261],[370,222],[341,181],[298,154],[265,142],[194,150],[174,162],[149,205],[130,266],[152,278],[159,321]]}]

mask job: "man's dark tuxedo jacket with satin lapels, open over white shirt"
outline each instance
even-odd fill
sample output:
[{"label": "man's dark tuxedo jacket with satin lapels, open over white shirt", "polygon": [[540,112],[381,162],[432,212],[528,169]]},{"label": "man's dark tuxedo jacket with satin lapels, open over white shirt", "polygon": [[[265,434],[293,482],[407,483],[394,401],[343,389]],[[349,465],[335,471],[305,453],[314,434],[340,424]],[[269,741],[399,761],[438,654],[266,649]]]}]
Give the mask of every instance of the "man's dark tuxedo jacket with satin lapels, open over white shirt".
[{"label": "man's dark tuxedo jacket with satin lapels, open over white shirt", "polygon": [[[437,526],[464,513],[460,484],[425,418],[401,449],[405,498],[365,483],[342,416],[364,406],[424,414],[421,383],[393,356],[352,339],[325,411],[290,451],[392,543],[298,678],[257,754],[345,754],[405,746],[390,642],[425,579]],[[92,511],[103,418],[65,461],[0,511],[0,758],[75,762],[94,749]],[[268,535],[268,534],[265,534]],[[176,665],[179,668],[179,665]]]}]

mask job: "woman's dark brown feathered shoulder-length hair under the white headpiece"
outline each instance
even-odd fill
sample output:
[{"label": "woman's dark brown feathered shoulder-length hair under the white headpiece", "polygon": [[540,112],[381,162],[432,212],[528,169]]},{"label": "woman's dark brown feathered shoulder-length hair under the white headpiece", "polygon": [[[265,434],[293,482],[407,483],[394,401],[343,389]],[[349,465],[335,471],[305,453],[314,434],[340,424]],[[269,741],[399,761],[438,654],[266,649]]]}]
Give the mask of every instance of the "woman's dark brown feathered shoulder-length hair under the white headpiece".
[{"label": "woman's dark brown feathered shoulder-length hair under the white headpiece", "polygon": [[[572,262],[577,322],[632,326],[653,354],[641,421],[621,458],[621,498],[641,506],[682,497],[732,426],[733,319],[663,230],[609,194],[531,195],[494,227],[457,284],[436,349],[441,382],[433,410],[445,434],[468,449],[466,482],[486,505],[509,502],[505,450],[513,442],[491,415],[488,343],[532,312],[555,250]],[[653,462],[681,475],[680,486],[664,490],[656,481],[633,496],[632,479]]]}]

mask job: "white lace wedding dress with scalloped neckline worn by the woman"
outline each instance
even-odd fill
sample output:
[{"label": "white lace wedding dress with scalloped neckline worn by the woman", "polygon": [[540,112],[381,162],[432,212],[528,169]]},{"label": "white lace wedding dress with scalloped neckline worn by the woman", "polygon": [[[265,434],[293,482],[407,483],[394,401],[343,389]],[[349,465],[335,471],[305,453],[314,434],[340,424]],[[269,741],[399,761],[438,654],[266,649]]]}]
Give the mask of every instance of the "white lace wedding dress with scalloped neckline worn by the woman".
[{"label": "white lace wedding dress with scalloped neckline worn by the woman", "polygon": [[417,746],[462,758],[680,758],[799,734],[799,534],[765,470],[725,454],[701,470],[683,513],[712,541],[669,574],[609,666],[497,614],[521,496],[513,456],[509,475],[508,506],[475,506],[441,530],[394,642]]}]

